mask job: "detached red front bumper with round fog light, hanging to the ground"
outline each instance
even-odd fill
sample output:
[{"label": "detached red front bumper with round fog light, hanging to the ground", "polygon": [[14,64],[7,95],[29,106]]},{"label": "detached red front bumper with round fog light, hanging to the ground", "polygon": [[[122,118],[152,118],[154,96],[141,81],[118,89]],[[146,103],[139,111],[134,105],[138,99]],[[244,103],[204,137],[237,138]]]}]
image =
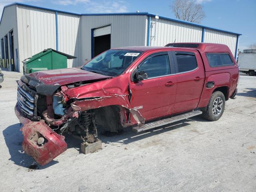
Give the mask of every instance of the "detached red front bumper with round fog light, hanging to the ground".
[{"label": "detached red front bumper with round fog light, hanging to the ground", "polygon": [[[48,164],[55,157],[67,150],[67,144],[64,140],[65,137],[54,132],[45,124],[44,120],[38,122],[29,120],[22,115],[17,104],[15,106],[15,114],[23,124],[23,127],[20,129],[24,135],[22,148],[38,164],[42,166]],[[46,140],[42,146],[37,144],[38,137],[44,137]]]}]

